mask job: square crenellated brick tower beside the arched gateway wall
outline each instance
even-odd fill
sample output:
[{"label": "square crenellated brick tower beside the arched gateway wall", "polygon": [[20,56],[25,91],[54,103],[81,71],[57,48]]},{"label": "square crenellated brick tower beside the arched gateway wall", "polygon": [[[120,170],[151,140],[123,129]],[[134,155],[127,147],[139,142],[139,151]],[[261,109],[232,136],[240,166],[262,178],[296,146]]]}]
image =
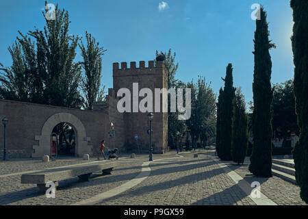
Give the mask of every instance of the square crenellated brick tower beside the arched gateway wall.
[{"label": "square crenellated brick tower beside the arched gateway wall", "polygon": [[[137,68],[136,62],[131,62],[130,68],[127,67],[127,62],[121,62],[120,68],[116,62],[113,64],[113,79],[116,94],[120,88],[127,88],[131,92],[131,112],[125,112],[123,115],[125,140],[136,148],[138,144],[142,151],[146,151],[149,149],[149,135],[146,133],[146,130],[149,129],[148,113],[142,113],[139,110],[133,112],[133,83],[138,83],[138,92],[142,88],[149,88],[153,92],[154,110],[155,88],[168,90],[168,73],[164,61],[157,61],[157,66],[154,66],[154,61],[149,61],[148,67],[145,66],[144,61],[140,61],[139,68]],[[143,98],[138,97],[138,103]],[[160,106],[160,112],[153,112],[153,153],[164,153],[168,144],[168,113],[162,112],[162,95]],[[138,141],[135,139],[136,135],[138,135]]]}]

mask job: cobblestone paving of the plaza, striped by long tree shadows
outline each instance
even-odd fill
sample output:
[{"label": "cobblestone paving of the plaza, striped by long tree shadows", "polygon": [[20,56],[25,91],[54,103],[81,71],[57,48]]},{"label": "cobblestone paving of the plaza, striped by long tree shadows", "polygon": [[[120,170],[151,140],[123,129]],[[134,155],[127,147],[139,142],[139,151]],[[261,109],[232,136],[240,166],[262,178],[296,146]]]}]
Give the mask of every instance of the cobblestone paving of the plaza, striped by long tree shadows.
[{"label": "cobblestone paving of the plaza, striped by long tree shadows", "polygon": [[[196,158],[193,156],[195,153],[198,154]],[[58,159],[49,163],[39,160],[0,162],[0,205],[71,205],[138,177],[142,164],[148,159],[147,155],[139,155],[135,159],[119,159],[120,164],[112,171],[112,175],[94,174],[88,182],[80,182],[78,178],[60,181],[55,198],[39,194],[35,184],[21,184],[21,174],[18,172],[86,162],[82,159]],[[97,205],[255,205],[227,175],[226,169],[220,167],[226,163],[218,161],[213,152],[199,150],[180,153],[180,156],[170,152],[166,155],[153,155],[153,160],[149,164],[149,177]],[[259,181],[261,192],[277,205],[305,205],[300,200],[298,186],[278,177],[247,177],[248,165],[227,166],[248,183]],[[12,172],[16,175],[3,176]]]}]

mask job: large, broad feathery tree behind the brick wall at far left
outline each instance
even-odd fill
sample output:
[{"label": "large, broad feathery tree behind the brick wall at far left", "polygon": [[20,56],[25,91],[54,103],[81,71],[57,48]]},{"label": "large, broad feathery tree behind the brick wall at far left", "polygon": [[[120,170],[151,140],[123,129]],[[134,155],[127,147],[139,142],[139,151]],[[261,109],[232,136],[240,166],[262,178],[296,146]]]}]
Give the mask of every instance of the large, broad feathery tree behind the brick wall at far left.
[{"label": "large, broad feathery tree behind the brick wall at far left", "polygon": [[81,66],[74,62],[79,37],[68,34],[68,12],[58,5],[55,20],[44,19],[44,31],[35,29],[26,35],[18,31],[20,36],[9,48],[13,64],[0,68],[0,95],[5,99],[80,108]]}]

